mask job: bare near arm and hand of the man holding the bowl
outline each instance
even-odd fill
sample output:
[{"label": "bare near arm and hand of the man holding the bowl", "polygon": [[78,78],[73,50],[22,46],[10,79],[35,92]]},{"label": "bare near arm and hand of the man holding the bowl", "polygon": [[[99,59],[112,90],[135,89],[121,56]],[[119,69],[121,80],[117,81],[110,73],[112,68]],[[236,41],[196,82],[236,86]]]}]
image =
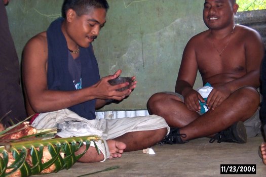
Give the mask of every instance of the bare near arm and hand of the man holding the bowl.
[{"label": "bare near arm and hand of the man holding the bowl", "polygon": [[[77,91],[52,91],[47,89],[47,40],[46,33],[36,35],[26,44],[23,52],[23,80],[29,106],[34,112],[50,112],[64,109],[92,99],[122,100],[131,90],[116,92],[126,86],[110,85],[109,79],[118,77],[121,70],[103,77],[96,84]],[[29,109],[27,109],[29,110]]]}]

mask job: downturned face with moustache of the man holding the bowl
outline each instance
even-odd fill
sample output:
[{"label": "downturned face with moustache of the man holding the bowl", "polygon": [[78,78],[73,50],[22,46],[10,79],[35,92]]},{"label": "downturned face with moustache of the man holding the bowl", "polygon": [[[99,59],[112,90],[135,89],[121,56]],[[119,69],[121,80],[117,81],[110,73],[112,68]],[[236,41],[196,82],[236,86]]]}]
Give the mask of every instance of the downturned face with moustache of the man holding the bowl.
[{"label": "downturned face with moustache of the man holding the bowl", "polygon": [[87,48],[99,35],[105,16],[106,10],[103,8],[92,8],[86,15],[75,15],[69,24],[68,33],[79,46]]}]

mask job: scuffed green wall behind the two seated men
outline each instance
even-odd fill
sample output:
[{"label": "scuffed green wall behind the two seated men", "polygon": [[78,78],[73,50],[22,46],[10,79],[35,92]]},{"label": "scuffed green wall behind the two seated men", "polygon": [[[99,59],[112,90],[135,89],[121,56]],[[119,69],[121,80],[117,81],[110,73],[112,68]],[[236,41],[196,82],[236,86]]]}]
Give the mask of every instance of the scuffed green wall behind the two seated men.
[{"label": "scuffed green wall behind the two seated men", "polygon": [[[27,40],[60,17],[62,0],[12,0],[6,7],[18,56]],[[100,75],[122,69],[136,76],[136,89],[120,104],[102,110],[146,109],[157,92],[174,91],[183,49],[206,30],[204,0],[109,0],[106,24],[93,42]],[[195,88],[202,85],[198,77]]]}]

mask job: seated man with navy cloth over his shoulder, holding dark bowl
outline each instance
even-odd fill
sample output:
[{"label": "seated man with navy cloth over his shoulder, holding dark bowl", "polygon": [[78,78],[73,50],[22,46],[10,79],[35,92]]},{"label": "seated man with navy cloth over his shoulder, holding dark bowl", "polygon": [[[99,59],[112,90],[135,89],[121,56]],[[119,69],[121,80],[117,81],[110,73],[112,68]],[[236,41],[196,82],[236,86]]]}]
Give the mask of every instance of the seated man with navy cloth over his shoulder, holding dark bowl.
[{"label": "seated man with navy cloth over his shoulder, holding dark bowl", "polygon": [[106,22],[108,8],[105,0],[65,0],[63,18],[52,22],[47,31],[32,37],[23,52],[27,112],[29,115],[40,113],[32,124],[38,126],[46,122],[42,125],[45,128],[46,124],[54,123],[51,121],[77,118],[78,121],[73,122],[89,121],[91,127],[87,130],[95,130],[90,135],[100,132],[105,136],[103,140],[107,146],[97,144],[102,153],[98,155],[91,144],[81,162],[121,157],[123,152],[153,146],[170,129],[166,121],[156,115],[95,119],[95,109],[113,99],[123,100],[136,87],[136,81],[133,81],[130,89],[118,92],[117,89],[129,83],[114,86],[108,83],[117,78],[121,70],[100,79],[92,42]]}]

